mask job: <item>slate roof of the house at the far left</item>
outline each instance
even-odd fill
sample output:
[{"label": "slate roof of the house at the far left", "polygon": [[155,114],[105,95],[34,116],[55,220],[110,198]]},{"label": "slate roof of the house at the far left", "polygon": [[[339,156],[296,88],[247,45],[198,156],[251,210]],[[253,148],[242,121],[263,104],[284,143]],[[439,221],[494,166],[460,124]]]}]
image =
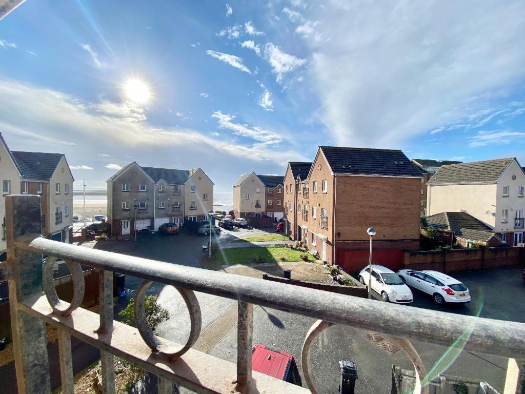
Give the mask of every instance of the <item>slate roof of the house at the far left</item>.
[{"label": "slate roof of the house at the far left", "polygon": [[23,179],[50,180],[62,153],[10,151]]}]

